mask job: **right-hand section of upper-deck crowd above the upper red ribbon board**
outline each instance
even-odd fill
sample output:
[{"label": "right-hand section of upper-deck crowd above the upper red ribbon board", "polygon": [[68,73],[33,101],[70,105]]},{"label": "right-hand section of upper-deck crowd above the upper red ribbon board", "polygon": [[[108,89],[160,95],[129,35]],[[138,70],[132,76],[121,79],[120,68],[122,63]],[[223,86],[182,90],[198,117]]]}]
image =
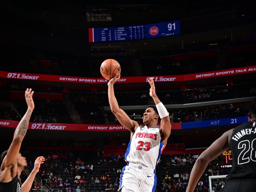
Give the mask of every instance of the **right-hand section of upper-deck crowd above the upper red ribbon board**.
[{"label": "right-hand section of upper-deck crowd above the upper red ribbon board", "polygon": [[[206,54],[207,55],[207,54]],[[141,67],[144,76],[183,75],[215,71],[227,68],[238,68],[256,65],[253,52],[239,52],[225,55],[220,65],[218,55],[193,57],[188,54],[180,55],[180,60],[173,60],[172,56],[141,58]]]}]

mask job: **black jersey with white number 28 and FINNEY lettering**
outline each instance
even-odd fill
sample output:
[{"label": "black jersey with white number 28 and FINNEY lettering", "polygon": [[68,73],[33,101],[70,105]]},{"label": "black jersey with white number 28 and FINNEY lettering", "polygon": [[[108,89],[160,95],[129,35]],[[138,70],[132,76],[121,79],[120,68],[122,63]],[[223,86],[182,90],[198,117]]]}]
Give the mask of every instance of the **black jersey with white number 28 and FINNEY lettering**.
[{"label": "black jersey with white number 28 and FINNEY lettering", "polygon": [[237,126],[229,140],[232,168],[229,179],[256,179],[256,122]]}]

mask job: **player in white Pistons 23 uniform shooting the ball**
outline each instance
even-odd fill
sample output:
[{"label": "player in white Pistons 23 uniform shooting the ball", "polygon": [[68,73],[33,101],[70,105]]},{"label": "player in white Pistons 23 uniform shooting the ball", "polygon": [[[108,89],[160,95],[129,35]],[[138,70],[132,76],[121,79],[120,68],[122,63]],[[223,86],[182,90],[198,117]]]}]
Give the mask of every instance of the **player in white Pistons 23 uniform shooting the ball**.
[{"label": "player in white Pistons 23 uniform shooting the ball", "polygon": [[[156,188],[156,165],[171,134],[169,114],[156,96],[155,84],[151,77],[149,95],[156,106],[149,106],[143,114],[143,124],[133,121],[119,108],[114,84],[120,78],[116,73],[108,82],[108,100],[112,113],[118,121],[131,132],[131,140],[125,153],[124,166],[120,175],[120,192],[149,192]],[[158,118],[161,118],[161,127],[157,128]]]}]

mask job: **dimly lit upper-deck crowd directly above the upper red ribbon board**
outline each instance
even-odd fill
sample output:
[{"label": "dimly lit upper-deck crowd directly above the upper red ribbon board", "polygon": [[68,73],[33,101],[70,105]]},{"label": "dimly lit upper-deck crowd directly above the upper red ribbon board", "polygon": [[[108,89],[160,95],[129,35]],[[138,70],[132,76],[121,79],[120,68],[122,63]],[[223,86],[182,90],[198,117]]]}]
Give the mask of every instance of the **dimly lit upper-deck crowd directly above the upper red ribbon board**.
[{"label": "dimly lit upper-deck crowd directly above the upper red ribbon board", "polygon": [[[197,50],[196,47],[194,49]],[[214,51],[216,52],[212,54]],[[12,48],[5,50],[6,53],[4,55],[13,54],[8,59],[15,57],[16,60],[8,60],[6,58],[10,64],[5,65],[4,69],[1,70],[51,75],[101,77],[101,63],[111,58],[120,63],[122,76],[137,75],[138,68],[141,68],[143,72],[143,74],[138,75],[156,76],[199,73],[256,64],[253,56],[254,52],[244,51],[243,46],[240,47],[239,52],[227,51],[227,54],[221,54],[221,59],[217,51],[225,52],[226,50],[211,50],[209,51],[211,54],[202,50],[202,52],[194,52],[194,55],[190,53],[193,50],[188,50],[187,53],[180,54],[179,57],[177,55],[170,55],[170,52],[161,52],[161,50],[157,52],[158,54],[155,52],[156,55],[154,54],[154,56],[149,52],[148,55],[151,56],[147,57],[142,56],[143,52],[137,53],[136,56],[130,53],[102,53],[92,54],[86,57],[74,56],[66,52],[35,52],[31,47],[20,47],[20,53],[24,52],[23,54],[20,54],[17,50],[12,50]],[[163,56],[163,54],[165,55]],[[140,59],[140,62],[136,62],[136,65],[141,66],[134,68],[132,57]],[[21,65],[21,63],[24,63],[24,65]]]}]

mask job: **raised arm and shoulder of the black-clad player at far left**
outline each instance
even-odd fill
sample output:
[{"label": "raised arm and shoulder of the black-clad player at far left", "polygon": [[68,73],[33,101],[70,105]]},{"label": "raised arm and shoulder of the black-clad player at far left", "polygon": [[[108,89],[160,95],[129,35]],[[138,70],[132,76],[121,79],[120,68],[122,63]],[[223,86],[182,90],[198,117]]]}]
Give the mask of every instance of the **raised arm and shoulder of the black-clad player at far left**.
[{"label": "raised arm and shoulder of the black-clad player at far left", "polygon": [[14,178],[17,174],[17,156],[20,153],[21,142],[24,139],[28,130],[28,123],[29,123],[30,116],[32,114],[33,109],[35,108],[34,101],[32,99],[33,93],[34,91],[32,91],[31,89],[27,89],[25,91],[25,99],[28,105],[28,109],[25,115],[22,117],[20,123],[18,124],[14,132],[12,143],[1,165],[1,171],[4,171],[5,169],[9,169],[9,168],[10,170],[12,170],[12,171],[4,171],[4,174],[1,174],[1,177],[4,178],[2,182],[11,181],[10,179],[7,179],[7,178]]}]

